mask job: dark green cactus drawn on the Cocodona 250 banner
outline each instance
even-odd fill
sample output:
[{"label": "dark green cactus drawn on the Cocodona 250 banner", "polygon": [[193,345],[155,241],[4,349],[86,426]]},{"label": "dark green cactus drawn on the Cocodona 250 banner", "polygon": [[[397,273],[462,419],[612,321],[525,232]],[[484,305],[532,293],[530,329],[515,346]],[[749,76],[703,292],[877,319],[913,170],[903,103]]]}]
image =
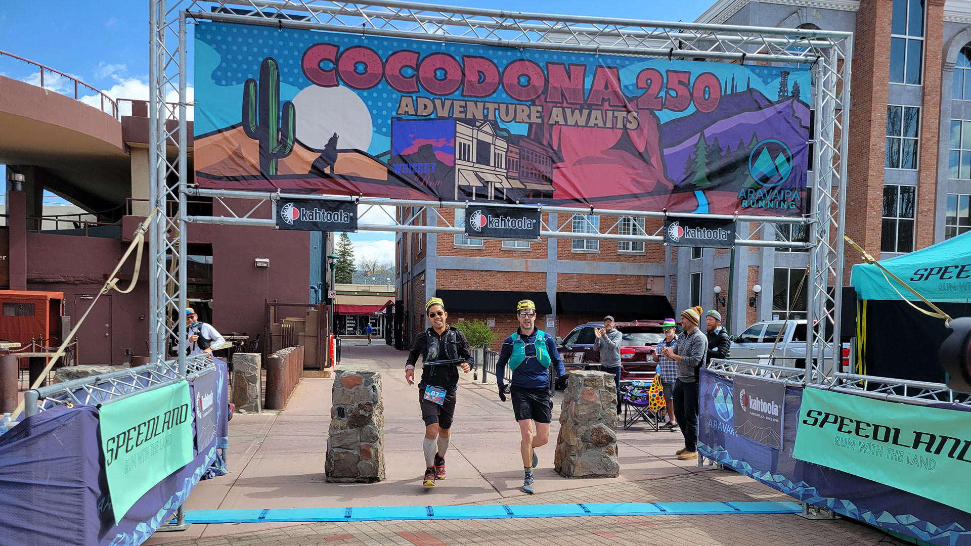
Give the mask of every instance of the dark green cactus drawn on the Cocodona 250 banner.
[{"label": "dark green cactus drawn on the Cocodona 250 banner", "polygon": [[293,152],[296,142],[296,111],[284,103],[280,111],[280,67],[266,57],[259,65],[259,84],[250,78],[243,87],[243,130],[259,143],[259,172],[278,173],[278,161]]}]

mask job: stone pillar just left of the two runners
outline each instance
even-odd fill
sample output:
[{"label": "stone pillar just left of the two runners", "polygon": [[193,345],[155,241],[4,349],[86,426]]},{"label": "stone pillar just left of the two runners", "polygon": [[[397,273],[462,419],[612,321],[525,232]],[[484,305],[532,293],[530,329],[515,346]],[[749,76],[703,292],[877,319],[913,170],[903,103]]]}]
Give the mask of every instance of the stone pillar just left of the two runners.
[{"label": "stone pillar just left of the two runners", "polygon": [[328,482],[385,480],[385,410],[381,374],[362,366],[337,370],[324,472]]}]

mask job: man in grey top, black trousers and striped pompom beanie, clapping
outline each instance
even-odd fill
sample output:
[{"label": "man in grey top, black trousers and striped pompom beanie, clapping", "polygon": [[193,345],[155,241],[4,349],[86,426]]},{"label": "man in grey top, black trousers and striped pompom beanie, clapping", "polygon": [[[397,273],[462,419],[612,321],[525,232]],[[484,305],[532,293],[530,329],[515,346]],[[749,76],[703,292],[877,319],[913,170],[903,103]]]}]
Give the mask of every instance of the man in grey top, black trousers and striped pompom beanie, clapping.
[{"label": "man in grey top, black trousers and striped pompom beanie, clapping", "polygon": [[664,348],[662,355],[678,362],[678,381],[674,384],[674,415],[681,424],[685,447],[676,452],[678,459],[690,461],[698,458],[698,369],[708,353],[708,338],[701,333],[701,307],[692,307],[681,313],[681,325],[685,331],[678,335],[678,345],[673,350]]}]

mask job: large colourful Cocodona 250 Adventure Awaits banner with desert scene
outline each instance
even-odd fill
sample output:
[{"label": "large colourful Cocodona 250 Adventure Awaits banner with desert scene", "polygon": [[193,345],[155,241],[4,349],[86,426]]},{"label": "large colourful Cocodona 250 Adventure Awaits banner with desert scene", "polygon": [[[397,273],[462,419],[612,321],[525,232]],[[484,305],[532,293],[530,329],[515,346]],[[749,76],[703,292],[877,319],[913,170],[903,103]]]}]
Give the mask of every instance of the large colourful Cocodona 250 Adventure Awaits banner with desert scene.
[{"label": "large colourful Cocodona 250 Adventure Awaits banner with desert scene", "polygon": [[800,216],[804,68],[199,22],[204,188]]}]

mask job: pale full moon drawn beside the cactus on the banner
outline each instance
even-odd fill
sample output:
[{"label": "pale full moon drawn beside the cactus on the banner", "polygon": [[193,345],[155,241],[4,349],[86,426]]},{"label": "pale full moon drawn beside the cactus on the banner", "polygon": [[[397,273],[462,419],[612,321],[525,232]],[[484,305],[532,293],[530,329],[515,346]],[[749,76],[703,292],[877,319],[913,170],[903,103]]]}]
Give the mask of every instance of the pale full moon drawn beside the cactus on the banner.
[{"label": "pale full moon drawn beside the cactus on the banner", "polygon": [[297,140],[323,150],[334,133],[337,148],[367,152],[374,125],[371,112],[352,89],[339,85],[311,85],[293,97],[297,115]]}]

